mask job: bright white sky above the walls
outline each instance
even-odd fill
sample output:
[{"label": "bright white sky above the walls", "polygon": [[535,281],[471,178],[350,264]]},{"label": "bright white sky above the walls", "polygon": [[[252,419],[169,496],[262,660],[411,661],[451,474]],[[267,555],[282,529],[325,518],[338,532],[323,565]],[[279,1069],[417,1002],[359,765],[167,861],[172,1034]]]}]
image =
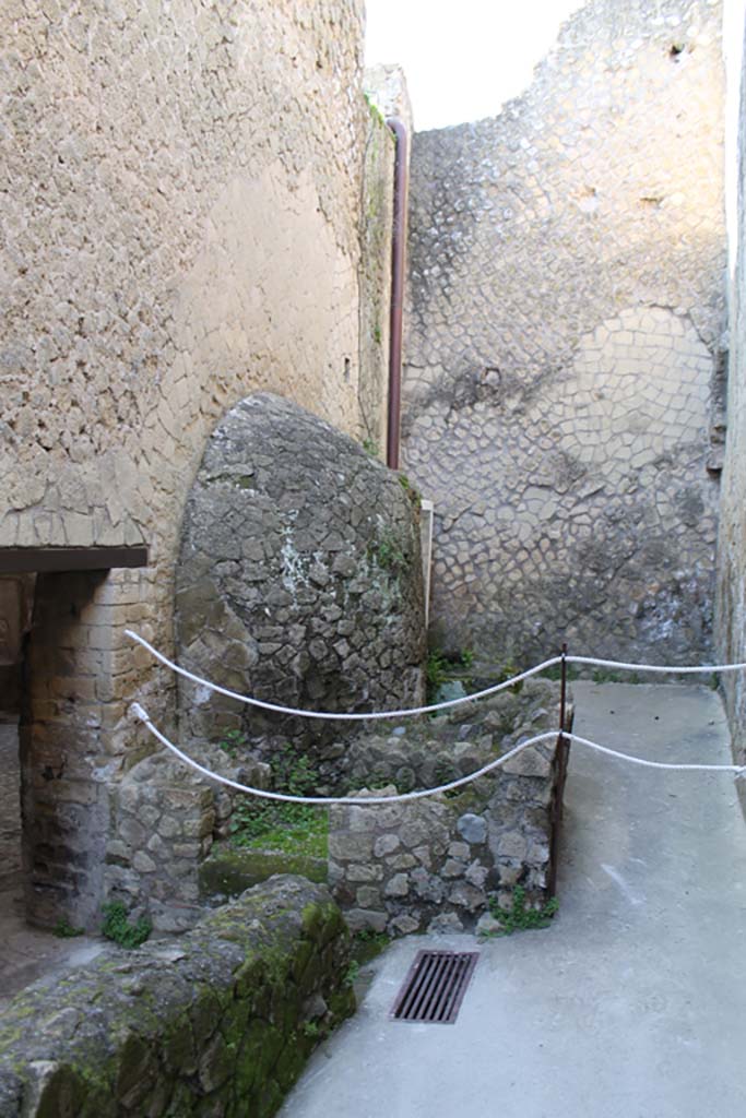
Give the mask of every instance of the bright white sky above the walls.
[{"label": "bright white sky above the walls", "polygon": [[366,0],[366,65],[404,67],[417,131],[494,116],[584,2]]}]

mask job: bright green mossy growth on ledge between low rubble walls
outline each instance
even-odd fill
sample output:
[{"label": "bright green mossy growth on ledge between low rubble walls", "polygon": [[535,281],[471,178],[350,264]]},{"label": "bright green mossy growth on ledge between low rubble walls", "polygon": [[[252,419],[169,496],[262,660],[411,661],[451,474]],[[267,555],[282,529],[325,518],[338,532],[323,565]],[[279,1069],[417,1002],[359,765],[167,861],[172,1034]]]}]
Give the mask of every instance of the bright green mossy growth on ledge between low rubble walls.
[{"label": "bright green mossy growth on ledge between low rubble walls", "polygon": [[[275,790],[292,796],[309,796],[315,790],[317,774],[308,757],[299,756],[286,745],[272,762]],[[234,807],[230,845],[253,850],[282,851],[325,858],[329,839],[329,813],[304,804],[283,804],[270,799],[242,799]]]}]

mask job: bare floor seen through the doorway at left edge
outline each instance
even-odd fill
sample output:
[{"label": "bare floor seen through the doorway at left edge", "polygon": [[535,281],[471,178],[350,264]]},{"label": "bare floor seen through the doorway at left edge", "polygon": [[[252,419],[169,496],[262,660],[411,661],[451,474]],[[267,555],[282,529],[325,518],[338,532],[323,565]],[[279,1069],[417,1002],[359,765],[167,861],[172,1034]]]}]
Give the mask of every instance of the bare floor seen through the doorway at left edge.
[{"label": "bare floor seen through the doorway at left edge", "polygon": [[103,941],[59,939],[26,923],[21,877],[18,726],[0,720],[0,1011],[29,983],[88,961]]}]

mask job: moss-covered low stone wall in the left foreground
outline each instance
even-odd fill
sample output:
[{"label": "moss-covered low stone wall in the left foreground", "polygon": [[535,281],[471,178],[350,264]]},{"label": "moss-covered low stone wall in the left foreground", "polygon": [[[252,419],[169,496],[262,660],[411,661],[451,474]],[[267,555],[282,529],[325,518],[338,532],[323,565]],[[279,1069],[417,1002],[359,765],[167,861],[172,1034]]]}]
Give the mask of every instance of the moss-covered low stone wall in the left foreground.
[{"label": "moss-covered low stone wall in the left foreground", "polygon": [[0,1025],[0,1115],[268,1118],[353,1010],[348,946],[322,885],[273,878],[177,942],[36,983]]}]

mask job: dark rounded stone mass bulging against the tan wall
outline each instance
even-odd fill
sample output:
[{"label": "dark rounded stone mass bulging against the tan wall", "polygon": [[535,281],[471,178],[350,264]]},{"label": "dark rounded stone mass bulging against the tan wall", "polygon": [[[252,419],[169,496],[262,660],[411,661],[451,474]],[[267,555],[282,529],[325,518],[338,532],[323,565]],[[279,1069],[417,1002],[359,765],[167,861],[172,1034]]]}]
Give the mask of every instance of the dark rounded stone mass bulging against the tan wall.
[{"label": "dark rounded stone mass bulging against the tan wall", "polygon": [[[417,499],[359,443],[257,394],[215,429],[189,493],[176,587],[181,663],[296,709],[417,705],[424,600]],[[340,737],[179,681],[186,740]],[[347,729],[347,728],[344,728]]]}]

